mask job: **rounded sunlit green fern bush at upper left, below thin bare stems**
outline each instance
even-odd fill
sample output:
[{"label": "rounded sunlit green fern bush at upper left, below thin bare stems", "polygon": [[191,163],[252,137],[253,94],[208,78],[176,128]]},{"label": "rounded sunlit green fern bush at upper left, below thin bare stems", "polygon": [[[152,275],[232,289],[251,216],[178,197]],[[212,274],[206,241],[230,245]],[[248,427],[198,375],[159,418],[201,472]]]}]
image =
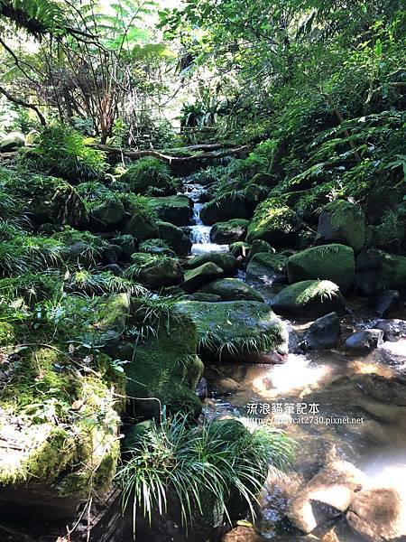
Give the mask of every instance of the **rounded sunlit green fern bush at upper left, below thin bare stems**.
[{"label": "rounded sunlit green fern bush at upper left, below thin bare stems", "polygon": [[23,162],[69,182],[98,179],[106,173],[106,156],[89,143],[69,126],[49,126],[42,129],[40,145],[25,155]]}]

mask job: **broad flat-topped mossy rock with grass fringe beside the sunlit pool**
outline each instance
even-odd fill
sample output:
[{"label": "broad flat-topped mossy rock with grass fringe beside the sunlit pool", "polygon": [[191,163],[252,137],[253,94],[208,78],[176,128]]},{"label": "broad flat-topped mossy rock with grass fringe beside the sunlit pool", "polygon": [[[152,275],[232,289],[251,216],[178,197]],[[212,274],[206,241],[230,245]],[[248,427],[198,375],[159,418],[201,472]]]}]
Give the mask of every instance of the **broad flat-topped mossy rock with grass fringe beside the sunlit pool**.
[{"label": "broad flat-topped mossy rock with grass fringe beside the sunlit pool", "polygon": [[204,360],[246,360],[251,354],[287,349],[285,326],[267,304],[183,301],[177,307],[196,322]]}]

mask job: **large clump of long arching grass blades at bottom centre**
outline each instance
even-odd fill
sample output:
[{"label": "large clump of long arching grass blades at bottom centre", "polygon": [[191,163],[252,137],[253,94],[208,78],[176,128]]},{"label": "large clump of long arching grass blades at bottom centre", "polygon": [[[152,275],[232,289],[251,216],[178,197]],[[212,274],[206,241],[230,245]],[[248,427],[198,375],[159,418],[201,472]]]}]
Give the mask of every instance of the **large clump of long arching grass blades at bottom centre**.
[{"label": "large clump of long arching grass blades at bottom centre", "polygon": [[202,516],[229,518],[229,500],[240,496],[254,515],[269,467],[285,471],[293,451],[291,439],[267,425],[250,432],[236,420],[195,427],[185,416],[165,418],[134,438],[118,474],[123,508],[134,501],[134,520],[139,509],[151,520],[174,501],[188,529]]}]

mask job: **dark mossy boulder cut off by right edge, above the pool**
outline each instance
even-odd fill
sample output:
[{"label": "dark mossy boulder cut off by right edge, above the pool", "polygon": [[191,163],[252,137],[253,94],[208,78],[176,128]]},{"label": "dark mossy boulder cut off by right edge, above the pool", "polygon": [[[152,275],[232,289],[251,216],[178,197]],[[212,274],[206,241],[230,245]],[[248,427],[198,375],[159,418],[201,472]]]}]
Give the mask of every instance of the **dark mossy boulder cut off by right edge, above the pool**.
[{"label": "dark mossy boulder cut off by right edge, above the pool", "polygon": [[356,259],[356,287],[365,295],[383,290],[406,294],[406,257],[369,248]]}]

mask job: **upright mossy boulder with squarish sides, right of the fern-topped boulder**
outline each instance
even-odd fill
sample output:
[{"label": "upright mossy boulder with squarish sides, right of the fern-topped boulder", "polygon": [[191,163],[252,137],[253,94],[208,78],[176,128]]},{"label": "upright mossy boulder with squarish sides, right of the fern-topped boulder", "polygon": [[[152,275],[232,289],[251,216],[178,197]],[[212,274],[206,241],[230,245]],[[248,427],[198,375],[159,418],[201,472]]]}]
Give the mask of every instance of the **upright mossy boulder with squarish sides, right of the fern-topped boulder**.
[{"label": "upright mossy boulder with squarish sides, right of the fern-topped boulder", "polygon": [[364,211],[350,201],[330,201],[318,217],[318,240],[322,243],[342,243],[359,252],[364,247],[365,230]]}]

